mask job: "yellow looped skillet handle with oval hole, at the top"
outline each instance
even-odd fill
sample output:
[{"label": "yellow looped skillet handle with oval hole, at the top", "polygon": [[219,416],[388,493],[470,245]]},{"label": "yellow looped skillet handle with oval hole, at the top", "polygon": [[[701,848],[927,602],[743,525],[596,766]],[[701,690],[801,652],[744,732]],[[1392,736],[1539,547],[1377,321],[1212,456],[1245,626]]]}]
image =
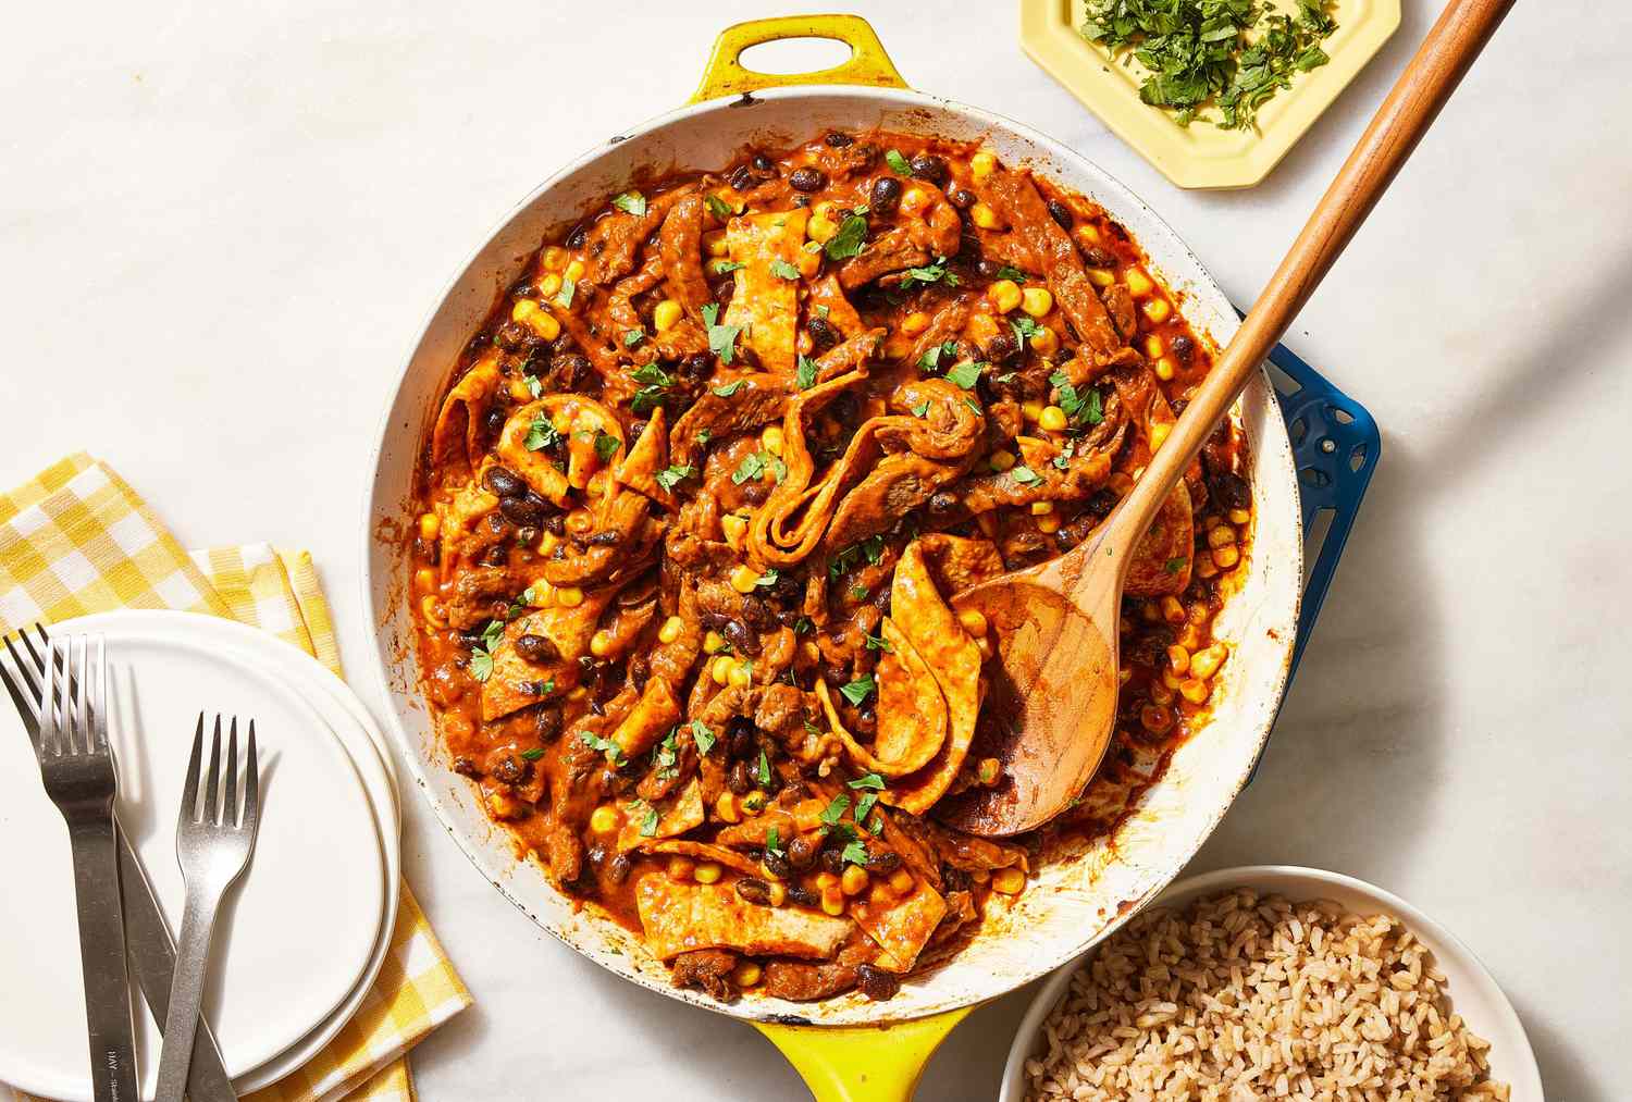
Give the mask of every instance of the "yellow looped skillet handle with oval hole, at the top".
[{"label": "yellow looped skillet handle with oval hole, at the top", "polygon": [[[850,59],[842,65],[813,73],[756,73],[743,69],[743,51],[761,42],[785,38],[831,38],[850,47]],[[906,88],[907,82],[896,72],[883,42],[873,28],[858,15],[787,15],[775,20],[751,20],[720,31],[713,56],[703,69],[703,82],[697,85],[692,103],[739,96],[761,88],[792,88],[795,85],[870,85],[873,88]]]}]

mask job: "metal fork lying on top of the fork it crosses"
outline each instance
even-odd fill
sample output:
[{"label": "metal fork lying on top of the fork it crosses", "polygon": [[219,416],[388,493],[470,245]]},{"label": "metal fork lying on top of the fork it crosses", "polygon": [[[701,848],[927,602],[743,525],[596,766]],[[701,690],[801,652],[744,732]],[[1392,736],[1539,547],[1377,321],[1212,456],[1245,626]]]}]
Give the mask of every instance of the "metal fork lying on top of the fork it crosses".
[{"label": "metal fork lying on top of the fork it crosses", "polygon": [[83,635],[55,638],[46,648],[36,753],[46,795],[62,811],[73,849],[91,1089],[98,1102],[139,1102],[113,826],[118,777],[108,748],[108,648],[101,637],[95,666],[90,651]]}]

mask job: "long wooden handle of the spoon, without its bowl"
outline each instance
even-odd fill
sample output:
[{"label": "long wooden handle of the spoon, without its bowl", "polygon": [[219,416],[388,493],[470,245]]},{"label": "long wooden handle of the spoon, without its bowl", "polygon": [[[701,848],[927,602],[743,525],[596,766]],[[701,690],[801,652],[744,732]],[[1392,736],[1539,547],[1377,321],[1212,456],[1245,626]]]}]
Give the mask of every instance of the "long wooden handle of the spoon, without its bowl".
[{"label": "long wooden handle of the spoon, without its bowl", "polygon": [[1116,511],[1105,534],[1108,545],[1131,549],[1151,527],[1173,485],[1371,214],[1513,2],[1451,0],[1446,5],[1235,338]]}]

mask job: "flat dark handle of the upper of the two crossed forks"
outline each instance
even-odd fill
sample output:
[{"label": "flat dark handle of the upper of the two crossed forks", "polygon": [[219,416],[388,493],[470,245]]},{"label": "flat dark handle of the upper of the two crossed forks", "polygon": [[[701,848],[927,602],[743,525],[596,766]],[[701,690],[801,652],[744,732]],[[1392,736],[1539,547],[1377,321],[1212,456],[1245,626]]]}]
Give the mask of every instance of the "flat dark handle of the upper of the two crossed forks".
[{"label": "flat dark handle of the upper of the two crossed forks", "polygon": [[113,815],[72,823],[69,839],[73,847],[73,895],[80,918],[93,1097],[96,1102],[140,1102]]}]

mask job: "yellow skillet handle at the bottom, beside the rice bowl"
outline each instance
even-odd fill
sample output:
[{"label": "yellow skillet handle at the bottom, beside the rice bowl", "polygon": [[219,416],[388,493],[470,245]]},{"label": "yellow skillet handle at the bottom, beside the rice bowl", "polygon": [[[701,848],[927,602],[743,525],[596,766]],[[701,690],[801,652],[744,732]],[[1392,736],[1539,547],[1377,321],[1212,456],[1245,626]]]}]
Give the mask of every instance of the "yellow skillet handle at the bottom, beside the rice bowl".
[{"label": "yellow skillet handle at the bottom, beside the rice bowl", "polygon": [[878,1027],[754,1022],[754,1029],[782,1050],[816,1102],[911,1102],[929,1058],[968,1012]]}]

